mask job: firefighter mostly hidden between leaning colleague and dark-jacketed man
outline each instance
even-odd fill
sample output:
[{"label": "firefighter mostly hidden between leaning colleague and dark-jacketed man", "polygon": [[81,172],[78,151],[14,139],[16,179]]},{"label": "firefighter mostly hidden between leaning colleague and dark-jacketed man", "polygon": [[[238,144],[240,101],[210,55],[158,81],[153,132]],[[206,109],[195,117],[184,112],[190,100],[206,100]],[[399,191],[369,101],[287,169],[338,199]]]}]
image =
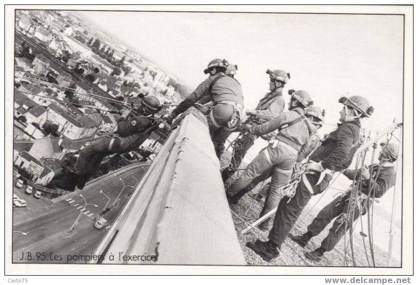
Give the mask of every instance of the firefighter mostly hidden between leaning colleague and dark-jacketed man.
[{"label": "firefighter mostly hidden between leaning colleague and dark-jacketed man", "polygon": [[[318,134],[318,130],[323,126],[324,124],[324,116],[325,116],[325,110],[322,110],[319,107],[309,107],[305,111],[306,117],[311,121],[312,123],[312,134],[309,137],[309,140],[306,144],[304,144],[301,148],[301,150],[298,153],[298,159],[297,163],[302,162],[310,153],[312,153],[319,143],[321,142],[321,137]],[[257,184],[260,182],[265,181],[269,177],[272,176],[272,169],[269,169],[265,171],[262,175],[254,179],[247,187],[245,187],[242,191],[240,191],[237,195],[235,195],[235,199],[232,200],[232,202],[238,202],[238,200],[245,195],[245,193],[248,193],[249,191],[253,190]],[[248,196],[255,199],[258,202],[263,202],[263,198],[266,198],[267,196],[267,190],[270,188],[270,182],[264,185],[264,187],[258,192],[258,193],[249,193]],[[263,215],[260,215],[260,217]]]}]

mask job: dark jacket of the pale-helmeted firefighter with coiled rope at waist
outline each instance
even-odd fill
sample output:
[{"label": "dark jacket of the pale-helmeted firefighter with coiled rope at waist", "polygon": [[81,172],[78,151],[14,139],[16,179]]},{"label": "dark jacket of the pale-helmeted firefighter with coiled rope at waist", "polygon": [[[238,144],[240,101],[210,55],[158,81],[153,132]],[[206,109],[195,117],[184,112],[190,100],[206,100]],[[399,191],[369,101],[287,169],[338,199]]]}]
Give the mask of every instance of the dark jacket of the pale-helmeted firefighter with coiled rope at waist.
[{"label": "dark jacket of the pale-helmeted firefighter with coiled rope at waist", "polygon": [[326,169],[341,171],[350,166],[359,147],[360,121],[343,122],[330,132],[327,138],[311,155],[314,162],[322,161]]}]

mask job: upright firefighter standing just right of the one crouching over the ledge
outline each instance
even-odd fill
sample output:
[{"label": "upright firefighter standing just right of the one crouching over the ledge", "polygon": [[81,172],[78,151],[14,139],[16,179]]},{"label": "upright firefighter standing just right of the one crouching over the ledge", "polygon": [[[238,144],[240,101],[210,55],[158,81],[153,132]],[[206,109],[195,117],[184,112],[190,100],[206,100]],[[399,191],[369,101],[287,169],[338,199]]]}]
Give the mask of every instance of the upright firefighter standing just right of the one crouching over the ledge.
[{"label": "upright firefighter standing just right of the one crouching over the ledge", "polygon": [[[269,89],[264,97],[260,100],[255,110],[250,111],[248,122],[251,125],[259,125],[265,123],[279,114],[284,110],[284,100],[282,96],[282,88],[290,79],[290,74],[282,71],[275,70],[271,71],[268,69],[266,73],[269,75]],[[254,144],[256,135],[243,131],[239,134],[238,141],[235,142],[235,148],[231,158],[229,166],[222,171],[222,179],[224,183],[235,173],[236,169],[241,164],[242,159],[245,157],[247,151]]]}]

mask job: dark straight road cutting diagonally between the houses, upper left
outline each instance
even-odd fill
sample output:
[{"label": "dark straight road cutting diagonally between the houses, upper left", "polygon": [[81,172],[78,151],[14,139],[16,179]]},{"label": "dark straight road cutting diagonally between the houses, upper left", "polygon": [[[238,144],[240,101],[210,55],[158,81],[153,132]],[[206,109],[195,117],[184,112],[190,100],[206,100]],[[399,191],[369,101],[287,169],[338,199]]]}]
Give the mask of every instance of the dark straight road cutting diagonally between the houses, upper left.
[{"label": "dark straight road cutting diagonally between the houses, upper left", "polygon": [[[82,82],[86,83],[87,85],[89,85],[90,87],[92,87],[94,94],[97,94],[97,95],[100,95],[100,96],[103,96],[103,97],[106,97],[106,98],[109,98],[109,99],[114,99],[112,96],[110,96],[109,94],[107,94],[105,91],[103,91],[102,89],[100,89],[98,86],[96,86],[92,82],[88,81],[83,76],[77,74],[73,70],[69,69],[64,62],[60,61],[55,56],[53,56],[52,54],[50,54],[49,51],[47,51],[39,43],[37,43],[33,39],[31,39],[31,38],[23,35],[21,32],[15,30],[15,44],[20,45],[23,41],[26,41],[26,44],[32,47],[34,53],[35,53],[35,50],[36,50],[37,53],[42,52],[42,54],[47,59],[49,59],[52,62],[55,62],[59,66],[59,69],[60,70],[65,71],[66,73],[70,74],[75,81],[82,81]],[[96,100],[99,100],[100,101],[100,99],[97,99],[97,98],[96,98]],[[121,106],[118,105],[118,104],[116,104],[115,107],[117,109],[120,109],[121,108]]]}]

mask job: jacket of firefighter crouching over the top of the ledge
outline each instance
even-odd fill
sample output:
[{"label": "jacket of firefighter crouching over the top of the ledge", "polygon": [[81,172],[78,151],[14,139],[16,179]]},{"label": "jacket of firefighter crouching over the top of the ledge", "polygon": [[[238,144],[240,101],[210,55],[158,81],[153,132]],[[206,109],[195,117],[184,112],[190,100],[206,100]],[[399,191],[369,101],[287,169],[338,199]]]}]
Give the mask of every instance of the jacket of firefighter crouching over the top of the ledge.
[{"label": "jacket of firefighter crouching over the top of the ledge", "polygon": [[[211,82],[221,76],[212,86],[209,93],[209,86]],[[234,78],[225,75],[224,73],[217,73],[208,77],[205,81],[200,83],[196,89],[173,110],[176,116],[186,111],[194,103],[207,103],[213,101],[218,103],[221,101],[233,101],[244,105],[244,97],[242,96],[241,85]]]}]

